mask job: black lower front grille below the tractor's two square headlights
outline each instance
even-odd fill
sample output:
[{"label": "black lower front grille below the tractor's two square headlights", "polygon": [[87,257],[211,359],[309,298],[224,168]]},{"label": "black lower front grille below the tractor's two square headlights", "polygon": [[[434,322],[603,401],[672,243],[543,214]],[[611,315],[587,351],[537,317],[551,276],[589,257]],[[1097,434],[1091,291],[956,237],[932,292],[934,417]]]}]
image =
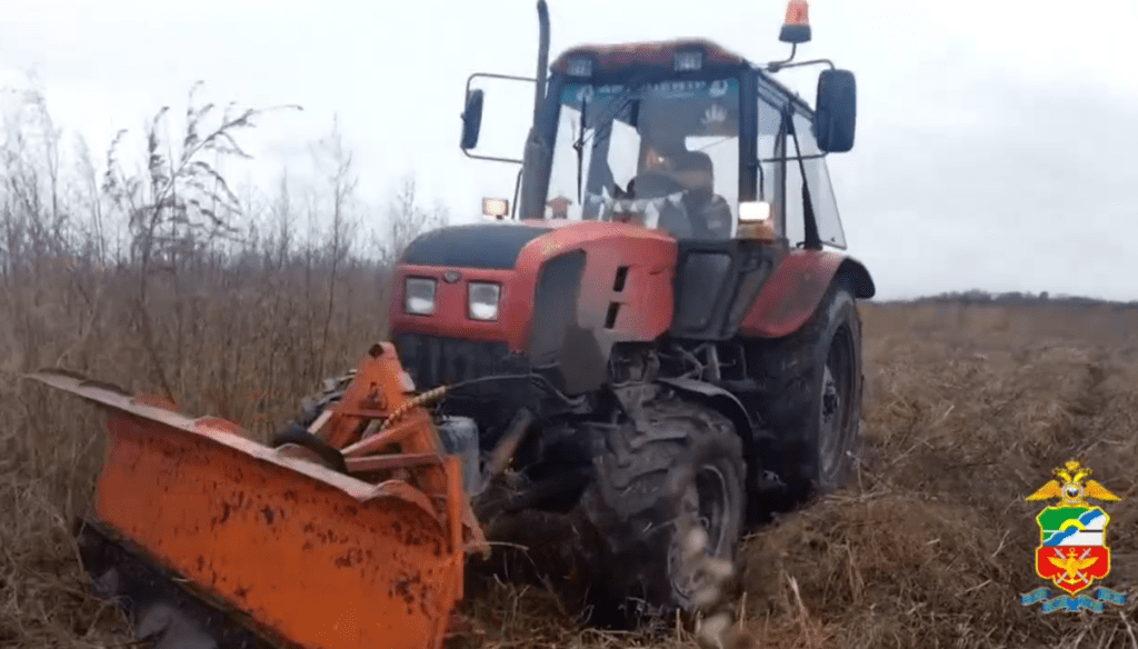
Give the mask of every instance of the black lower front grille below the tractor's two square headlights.
[{"label": "black lower front grille below the tractor's two square headlights", "polygon": [[399,361],[420,391],[505,372],[505,343],[463,340],[424,334],[393,337]]}]

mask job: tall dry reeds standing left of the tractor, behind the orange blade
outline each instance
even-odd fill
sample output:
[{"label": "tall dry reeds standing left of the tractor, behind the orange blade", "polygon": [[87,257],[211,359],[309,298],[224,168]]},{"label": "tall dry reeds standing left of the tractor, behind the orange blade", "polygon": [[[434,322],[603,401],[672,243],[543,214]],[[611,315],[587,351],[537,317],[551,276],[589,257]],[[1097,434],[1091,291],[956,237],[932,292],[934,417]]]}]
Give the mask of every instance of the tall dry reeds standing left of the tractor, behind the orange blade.
[{"label": "tall dry reeds standing left of the tractor, behind the orange blade", "polygon": [[[0,646],[82,646],[114,619],[86,594],[69,527],[90,503],[102,422],[22,381],[63,367],[265,435],[320,379],[386,334],[390,263],[445,221],[406,180],[385,206],[355,194],[338,125],[313,143],[321,184],[241,192],[217,172],[263,112],[191,93],[99,165],[24,92],[0,142]],[[76,158],[64,164],[68,156]],[[398,237],[393,237],[396,233]]]}]

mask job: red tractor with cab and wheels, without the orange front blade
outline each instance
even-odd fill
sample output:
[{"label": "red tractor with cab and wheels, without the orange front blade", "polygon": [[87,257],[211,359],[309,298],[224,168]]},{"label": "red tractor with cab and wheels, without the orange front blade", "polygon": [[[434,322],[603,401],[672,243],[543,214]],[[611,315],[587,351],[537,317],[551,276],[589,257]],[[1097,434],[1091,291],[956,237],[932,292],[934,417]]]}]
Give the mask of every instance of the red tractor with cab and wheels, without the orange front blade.
[{"label": "red tractor with cab and wheels, without the orange front blade", "polygon": [[[419,389],[451,386],[447,426],[477,429],[468,490],[487,537],[575,541],[596,613],[690,609],[677,520],[731,558],[774,503],[851,471],[856,301],[874,284],[825,249],[846,247],[825,156],[852,147],[853,75],[793,52],[757,66],[704,40],[547,65],[544,1],[538,15],[513,217],[488,202],[497,221],[407,247],[393,342]],[[792,0],[781,40],[809,41],[806,18]],[[772,77],[809,64],[827,67],[813,109]],[[471,157],[483,101],[468,82]]]}]

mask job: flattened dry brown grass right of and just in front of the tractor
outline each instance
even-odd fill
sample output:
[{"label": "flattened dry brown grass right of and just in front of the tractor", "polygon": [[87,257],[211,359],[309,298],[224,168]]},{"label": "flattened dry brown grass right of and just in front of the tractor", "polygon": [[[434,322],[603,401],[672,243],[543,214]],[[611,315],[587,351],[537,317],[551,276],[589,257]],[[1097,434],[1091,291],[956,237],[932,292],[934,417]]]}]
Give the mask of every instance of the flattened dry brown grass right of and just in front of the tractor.
[{"label": "flattened dry brown grass right of and just in front of the tractor", "polygon": [[[1138,648],[1138,309],[864,304],[865,449],[856,484],[758,531],[734,624],[754,647]],[[1107,503],[1128,593],[1102,614],[1024,607],[1052,469],[1083,458]],[[497,586],[470,613],[489,647],[695,647],[562,622],[539,589]]]}]

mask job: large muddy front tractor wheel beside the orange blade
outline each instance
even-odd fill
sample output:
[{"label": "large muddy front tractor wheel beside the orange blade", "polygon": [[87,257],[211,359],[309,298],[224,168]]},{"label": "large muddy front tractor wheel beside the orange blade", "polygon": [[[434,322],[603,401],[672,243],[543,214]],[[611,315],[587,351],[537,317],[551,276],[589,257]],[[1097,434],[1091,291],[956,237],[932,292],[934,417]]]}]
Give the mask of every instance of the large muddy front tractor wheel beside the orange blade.
[{"label": "large muddy front tractor wheel beside the orange blade", "polygon": [[[731,420],[670,395],[643,413],[596,436],[596,477],[579,506],[595,545],[587,603],[602,625],[695,610],[716,588],[702,559],[734,560],[743,531],[747,466]],[[694,559],[692,526],[706,533]]]}]

